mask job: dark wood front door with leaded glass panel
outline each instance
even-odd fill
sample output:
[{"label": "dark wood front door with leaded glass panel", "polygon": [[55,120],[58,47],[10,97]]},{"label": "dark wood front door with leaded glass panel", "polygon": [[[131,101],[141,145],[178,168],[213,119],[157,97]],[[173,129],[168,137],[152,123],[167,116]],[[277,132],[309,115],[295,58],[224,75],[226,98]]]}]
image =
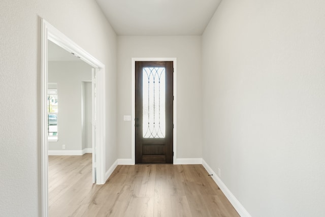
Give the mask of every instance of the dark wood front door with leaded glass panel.
[{"label": "dark wood front door with leaded glass panel", "polygon": [[173,163],[173,61],[136,61],[136,164]]}]

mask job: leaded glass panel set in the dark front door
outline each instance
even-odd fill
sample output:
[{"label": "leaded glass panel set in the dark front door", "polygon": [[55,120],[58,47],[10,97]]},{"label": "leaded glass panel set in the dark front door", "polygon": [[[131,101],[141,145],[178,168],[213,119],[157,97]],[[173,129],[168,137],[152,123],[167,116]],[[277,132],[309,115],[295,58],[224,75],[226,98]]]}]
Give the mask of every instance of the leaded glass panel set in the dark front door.
[{"label": "leaded glass panel set in the dark front door", "polygon": [[165,67],[144,67],[143,138],[165,138]]}]

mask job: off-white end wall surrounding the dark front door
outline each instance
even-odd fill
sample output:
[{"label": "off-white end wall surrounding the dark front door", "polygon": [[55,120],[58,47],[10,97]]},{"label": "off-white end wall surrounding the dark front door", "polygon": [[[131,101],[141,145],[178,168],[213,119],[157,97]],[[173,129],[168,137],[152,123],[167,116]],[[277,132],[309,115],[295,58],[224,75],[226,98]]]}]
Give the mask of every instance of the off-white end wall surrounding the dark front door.
[{"label": "off-white end wall surrounding the dark front door", "polygon": [[118,158],[131,159],[132,57],[177,57],[177,158],[201,158],[200,36],[118,37]]}]

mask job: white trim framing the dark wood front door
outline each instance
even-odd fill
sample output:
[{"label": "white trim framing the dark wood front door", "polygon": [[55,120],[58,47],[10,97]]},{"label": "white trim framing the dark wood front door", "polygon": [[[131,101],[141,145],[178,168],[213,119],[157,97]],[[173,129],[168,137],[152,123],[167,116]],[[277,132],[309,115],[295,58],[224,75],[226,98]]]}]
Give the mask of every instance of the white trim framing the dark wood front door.
[{"label": "white trim framing the dark wood front door", "polygon": [[173,162],[175,164],[177,160],[177,58],[176,57],[132,57],[132,70],[131,70],[131,105],[132,105],[132,112],[131,112],[131,161],[132,164],[135,164],[136,158],[136,130],[135,126],[135,117],[136,117],[136,107],[135,107],[135,94],[136,94],[136,61],[173,61],[174,65],[174,73],[173,73],[173,91],[174,91],[174,103],[173,103],[173,122],[174,122],[174,130],[173,130],[173,151],[174,157]]}]

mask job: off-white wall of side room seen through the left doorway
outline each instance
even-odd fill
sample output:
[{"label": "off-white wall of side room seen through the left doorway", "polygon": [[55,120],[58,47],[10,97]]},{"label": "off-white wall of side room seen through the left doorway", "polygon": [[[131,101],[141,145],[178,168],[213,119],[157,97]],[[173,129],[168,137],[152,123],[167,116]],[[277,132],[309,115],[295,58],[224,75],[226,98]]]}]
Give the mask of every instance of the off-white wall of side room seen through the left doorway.
[{"label": "off-white wall of side room seen through the left doorway", "polygon": [[66,150],[86,148],[84,140],[87,134],[82,129],[83,118],[86,128],[86,115],[82,114],[82,107],[84,103],[86,111],[87,104],[84,102],[86,99],[82,99],[86,98],[82,84],[83,81],[91,81],[91,68],[84,61],[49,61],[48,82],[57,84],[58,97],[58,141],[49,142],[49,150],[62,150],[63,144]]}]

